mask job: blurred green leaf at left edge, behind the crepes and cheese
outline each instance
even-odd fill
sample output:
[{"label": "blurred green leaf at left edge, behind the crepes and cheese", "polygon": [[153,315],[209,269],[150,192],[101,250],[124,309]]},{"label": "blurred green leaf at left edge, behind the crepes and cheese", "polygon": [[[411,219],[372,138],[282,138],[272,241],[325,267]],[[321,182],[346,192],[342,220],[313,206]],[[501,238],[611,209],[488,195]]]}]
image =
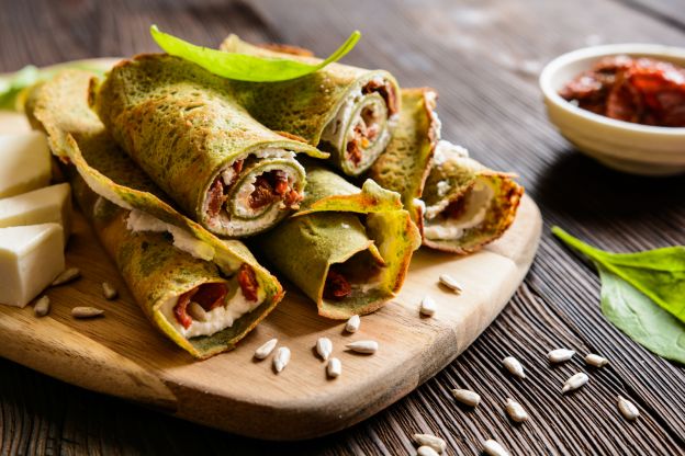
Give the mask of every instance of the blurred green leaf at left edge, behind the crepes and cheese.
[{"label": "blurred green leaf at left edge, behind the crepes and cheese", "polygon": [[33,65],[27,65],[7,77],[0,77],[0,110],[20,111],[21,106],[18,106],[18,99],[21,98],[23,90],[36,82],[45,81],[67,68],[89,70],[98,75],[103,73],[102,68],[97,65],[78,61],[57,65],[48,69],[38,69]]}]

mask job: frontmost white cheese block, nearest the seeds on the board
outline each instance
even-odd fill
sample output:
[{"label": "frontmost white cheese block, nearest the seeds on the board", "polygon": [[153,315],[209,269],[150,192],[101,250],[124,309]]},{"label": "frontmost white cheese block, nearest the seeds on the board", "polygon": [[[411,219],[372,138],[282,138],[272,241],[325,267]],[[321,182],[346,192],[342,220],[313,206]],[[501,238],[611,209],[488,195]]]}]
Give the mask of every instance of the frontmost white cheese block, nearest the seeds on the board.
[{"label": "frontmost white cheese block, nearest the seeds on the board", "polygon": [[24,307],[64,269],[59,224],[0,228],[0,303]]}]

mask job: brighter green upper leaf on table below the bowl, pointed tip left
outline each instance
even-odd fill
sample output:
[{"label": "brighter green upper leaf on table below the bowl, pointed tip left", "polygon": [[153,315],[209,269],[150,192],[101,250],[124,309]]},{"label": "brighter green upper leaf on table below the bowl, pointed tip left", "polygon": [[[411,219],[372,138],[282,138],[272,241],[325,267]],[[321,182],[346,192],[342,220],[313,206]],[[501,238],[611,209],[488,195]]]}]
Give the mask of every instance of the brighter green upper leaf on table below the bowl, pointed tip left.
[{"label": "brighter green upper leaf on table below the bowl, pointed tip left", "polygon": [[666,247],[638,253],[611,253],[588,246],[559,227],[552,227],[552,232],[636,287],[678,320],[685,321],[685,247]]}]

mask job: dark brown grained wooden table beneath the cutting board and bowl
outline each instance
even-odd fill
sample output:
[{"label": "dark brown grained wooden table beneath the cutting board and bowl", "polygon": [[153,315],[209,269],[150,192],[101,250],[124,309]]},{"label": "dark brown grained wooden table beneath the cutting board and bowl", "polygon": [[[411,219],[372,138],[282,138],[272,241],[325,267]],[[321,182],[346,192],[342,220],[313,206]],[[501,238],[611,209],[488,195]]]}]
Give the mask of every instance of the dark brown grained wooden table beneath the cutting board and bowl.
[{"label": "dark brown grained wooden table beneath the cutting board and bowl", "polygon": [[[547,122],[537,77],[554,56],[600,43],[685,44],[678,0],[473,1],[0,1],[0,71],[155,50],[148,27],[216,45],[229,32],[329,53],[351,30],[364,36],[346,59],[391,70],[401,84],[440,93],[443,137],[484,163],[521,175],[546,221],[537,260],[502,316],[457,361],[408,397],[325,438],[260,442],[182,422],[63,384],[0,360],[2,454],[414,454],[411,435],[439,434],[448,454],[473,455],[495,437],[515,455],[683,454],[685,369],[632,343],[599,312],[595,272],[549,235],[560,225],[592,243],[635,251],[685,243],[685,176],[645,179],[577,153]],[[550,368],[566,346],[610,365],[562,397],[580,357]],[[529,378],[501,367],[516,355]],[[456,386],[481,392],[474,411]],[[642,417],[628,423],[616,395]],[[513,425],[515,396],[530,420]]]}]

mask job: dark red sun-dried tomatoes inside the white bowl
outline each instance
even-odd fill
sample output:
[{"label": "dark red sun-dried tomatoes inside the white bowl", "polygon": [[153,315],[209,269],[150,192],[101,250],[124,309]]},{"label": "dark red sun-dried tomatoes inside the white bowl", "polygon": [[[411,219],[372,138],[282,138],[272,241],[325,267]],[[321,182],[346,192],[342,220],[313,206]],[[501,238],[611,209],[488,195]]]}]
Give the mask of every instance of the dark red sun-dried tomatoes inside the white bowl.
[{"label": "dark red sun-dried tomatoes inside the white bowl", "polygon": [[685,68],[625,55],[605,57],[559,94],[595,114],[664,127],[685,126]]}]

